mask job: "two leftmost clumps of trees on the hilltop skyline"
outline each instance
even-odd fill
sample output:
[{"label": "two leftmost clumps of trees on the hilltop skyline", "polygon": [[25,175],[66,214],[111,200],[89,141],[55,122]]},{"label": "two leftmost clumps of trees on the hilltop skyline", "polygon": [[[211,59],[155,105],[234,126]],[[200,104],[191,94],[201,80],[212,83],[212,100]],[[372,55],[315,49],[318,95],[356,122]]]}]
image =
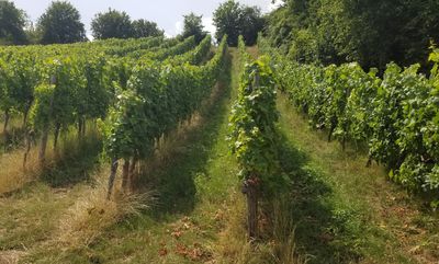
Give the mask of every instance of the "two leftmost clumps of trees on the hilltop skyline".
[{"label": "two leftmost clumps of trees on the hilltop skyline", "polygon": [[[127,13],[112,9],[95,14],[91,27],[97,39],[164,36],[157,23],[143,19],[133,21]],[[1,44],[67,44],[85,41],[88,39],[81,15],[67,1],[52,2],[35,26],[13,2],[0,1]]]}]

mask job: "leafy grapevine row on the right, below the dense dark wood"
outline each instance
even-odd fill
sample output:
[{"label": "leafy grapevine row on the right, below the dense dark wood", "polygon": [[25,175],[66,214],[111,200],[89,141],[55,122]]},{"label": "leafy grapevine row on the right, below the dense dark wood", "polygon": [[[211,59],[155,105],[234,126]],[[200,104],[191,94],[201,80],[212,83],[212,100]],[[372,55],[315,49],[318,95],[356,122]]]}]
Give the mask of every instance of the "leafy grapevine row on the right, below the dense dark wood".
[{"label": "leafy grapevine row on the right, below the dense dark wood", "polygon": [[[263,47],[263,43],[261,45]],[[429,77],[419,65],[389,64],[382,78],[358,64],[327,67],[275,58],[278,80],[292,103],[328,139],[367,144],[370,160],[385,164],[390,177],[410,191],[439,193],[439,50]]]}]

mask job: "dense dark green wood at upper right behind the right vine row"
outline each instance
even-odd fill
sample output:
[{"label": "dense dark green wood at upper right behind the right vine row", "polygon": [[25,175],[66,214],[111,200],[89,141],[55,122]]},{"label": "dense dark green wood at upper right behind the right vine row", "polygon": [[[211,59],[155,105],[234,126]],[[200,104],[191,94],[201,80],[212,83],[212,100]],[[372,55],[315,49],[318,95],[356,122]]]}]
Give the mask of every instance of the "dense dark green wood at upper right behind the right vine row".
[{"label": "dense dark green wood at upper right behind the right vine row", "polygon": [[426,67],[430,42],[439,41],[438,12],[437,1],[289,0],[269,14],[266,33],[299,61]]}]

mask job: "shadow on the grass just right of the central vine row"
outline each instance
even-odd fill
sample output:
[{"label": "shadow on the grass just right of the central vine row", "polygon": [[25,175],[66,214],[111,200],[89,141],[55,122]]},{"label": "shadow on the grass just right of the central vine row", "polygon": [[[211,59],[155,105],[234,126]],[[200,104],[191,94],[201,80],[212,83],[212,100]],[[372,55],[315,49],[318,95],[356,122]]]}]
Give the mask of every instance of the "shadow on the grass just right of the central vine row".
[{"label": "shadow on the grass just right of the central vine row", "polygon": [[290,208],[285,209],[292,213],[299,253],[308,256],[307,263],[358,262],[358,219],[352,221],[352,211],[331,204],[331,186],[323,180],[324,173],[308,163],[306,153],[297,150],[285,135],[282,142],[281,167],[292,181],[288,192]]}]

